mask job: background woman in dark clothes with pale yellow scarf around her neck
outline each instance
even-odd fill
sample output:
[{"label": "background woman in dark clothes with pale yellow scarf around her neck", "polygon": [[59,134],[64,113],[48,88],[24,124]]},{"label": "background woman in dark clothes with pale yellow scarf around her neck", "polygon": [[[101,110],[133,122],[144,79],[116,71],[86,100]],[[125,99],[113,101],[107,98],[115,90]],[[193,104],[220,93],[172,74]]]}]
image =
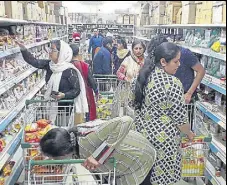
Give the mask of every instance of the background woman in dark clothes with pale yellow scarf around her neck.
[{"label": "background woman in dark clothes with pale yellow scarf around her neck", "polygon": [[126,57],[130,55],[130,51],[128,50],[127,43],[124,39],[118,39],[117,40],[117,49],[113,53],[113,74],[117,73],[117,70],[119,69],[121,63],[124,61]]}]

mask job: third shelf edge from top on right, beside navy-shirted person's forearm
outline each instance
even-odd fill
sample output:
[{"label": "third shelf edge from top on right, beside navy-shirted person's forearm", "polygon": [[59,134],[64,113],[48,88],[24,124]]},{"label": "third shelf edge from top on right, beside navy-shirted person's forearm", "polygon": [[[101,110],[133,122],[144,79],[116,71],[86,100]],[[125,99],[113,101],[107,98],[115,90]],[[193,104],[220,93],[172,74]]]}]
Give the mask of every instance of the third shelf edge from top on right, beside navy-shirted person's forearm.
[{"label": "third shelf edge from top on right, beside navy-shirted person's forearm", "polygon": [[226,82],[223,82],[220,79],[206,74],[202,80],[202,84],[226,95]]}]

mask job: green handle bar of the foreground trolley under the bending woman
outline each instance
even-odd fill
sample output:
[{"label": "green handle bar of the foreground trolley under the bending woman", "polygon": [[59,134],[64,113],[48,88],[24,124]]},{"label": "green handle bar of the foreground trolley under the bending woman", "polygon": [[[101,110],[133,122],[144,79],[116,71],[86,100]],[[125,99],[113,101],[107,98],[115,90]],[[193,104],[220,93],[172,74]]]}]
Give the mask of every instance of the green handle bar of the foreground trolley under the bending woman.
[{"label": "green handle bar of the foreground trolley under the bending woman", "polygon": [[[30,165],[48,165],[48,164],[82,164],[85,162],[85,159],[63,159],[63,160],[30,160]],[[116,159],[110,158],[110,163],[113,163],[116,166]]]}]

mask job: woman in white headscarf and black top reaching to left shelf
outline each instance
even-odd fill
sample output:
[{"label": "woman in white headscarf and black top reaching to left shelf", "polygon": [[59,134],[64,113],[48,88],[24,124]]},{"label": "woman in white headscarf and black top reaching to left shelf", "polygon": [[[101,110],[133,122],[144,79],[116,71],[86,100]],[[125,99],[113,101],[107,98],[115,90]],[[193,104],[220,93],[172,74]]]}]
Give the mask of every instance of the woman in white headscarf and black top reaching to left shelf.
[{"label": "woman in white headscarf and black top reaching to left shelf", "polygon": [[[62,40],[51,41],[51,47],[49,48],[50,59],[46,60],[34,58],[22,43],[17,42],[17,44],[20,46],[22,56],[28,64],[47,71],[45,77],[47,83],[47,91],[44,94],[45,99],[75,99],[76,112],[88,112],[84,81],[78,69],[70,63],[72,60],[72,49],[66,42]],[[53,94],[53,92],[55,93]],[[54,107],[60,106],[58,110],[62,110],[69,105],[71,104],[62,102],[56,104],[56,102],[53,102],[50,107],[53,110]],[[55,113],[51,112],[50,120],[53,122],[56,120],[58,110]],[[66,110],[66,112],[69,112],[69,110]]]}]

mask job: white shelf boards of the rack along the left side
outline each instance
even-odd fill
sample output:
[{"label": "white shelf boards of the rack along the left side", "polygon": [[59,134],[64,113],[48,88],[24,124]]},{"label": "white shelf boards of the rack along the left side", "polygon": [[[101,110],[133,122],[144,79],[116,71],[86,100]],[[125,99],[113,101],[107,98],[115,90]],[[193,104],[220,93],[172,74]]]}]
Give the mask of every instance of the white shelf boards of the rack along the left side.
[{"label": "white shelf boards of the rack along the left side", "polygon": [[[33,43],[26,44],[27,49],[31,49],[37,52],[38,48],[43,48],[43,46],[50,43],[50,40],[61,39],[68,42],[68,30],[67,25],[61,25],[57,23],[46,23],[46,22],[37,22],[37,21],[25,21],[25,20],[15,20],[15,19],[8,19],[8,18],[0,18],[0,27],[7,28],[9,26],[20,26],[23,30],[26,29],[25,26],[33,26],[36,28],[36,31],[40,31],[40,27],[44,29],[49,29],[51,35],[42,35],[42,37],[38,38],[39,40],[34,39]],[[33,33],[34,35],[38,35],[37,33]],[[22,38],[22,37],[20,37]],[[24,38],[24,37],[23,37]],[[38,51],[40,52],[40,51]],[[0,64],[7,59],[13,59],[14,57],[18,57],[20,55],[20,48],[19,47],[8,47],[5,50],[0,50]],[[2,67],[2,65],[1,65]],[[2,71],[0,71],[1,73]],[[34,84],[34,87],[31,90],[26,90],[26,93],[23,94],[21,99],[9,110],[1,110],[1,117],[0,117],[0,133],[5,132],[6,129],[11,128],[12,124],[18,118],[18,116],[23,117],[23,112],[25,108],[25,101],[27,99],[31,99],[36,97],[37,93],[44,87],[45,79],[43,76],[45,75],[40,70],[27,65],[26,68],[23,70],[16,72],[11,77],[5,78],[3,81],[0,81],[0,96],[4,96],[5,93],[12,91],[12,89],[17,86],[17,84],[24,83],[28,78],[31,78],[31,75],[37,73],[40,76],[37,76],[37,81]],[[2,79],[1,79],[2,80]],[[1,108],[0,108],[1,109]],[[3,114],[4,112],[4,114]],[[21,125],[22,126],[22,125]],[[2,170],[6,163],[10,160],[14,160],[16,163],[12,169],[11,175],[6,177],[5,184],[13,185],[17,182],[23,168],[23,157],[22,157],[22,149],[20,147],[21,138],[22,138],[22,128],[20,131],[10,137],[7,136],[7,142],[4,149],[0,152],[0,170]]]}]

